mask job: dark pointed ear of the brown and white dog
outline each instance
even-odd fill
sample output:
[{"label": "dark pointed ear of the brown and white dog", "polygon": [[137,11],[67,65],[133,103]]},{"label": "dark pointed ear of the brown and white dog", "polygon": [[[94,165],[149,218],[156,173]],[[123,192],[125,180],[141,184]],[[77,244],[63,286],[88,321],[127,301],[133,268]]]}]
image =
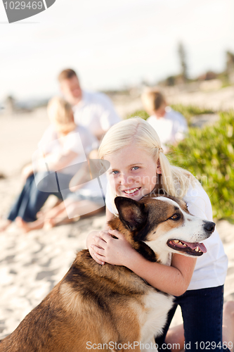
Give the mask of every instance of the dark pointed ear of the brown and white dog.
[{"label": "dark pointed ear of the brown and white dog", "polygon": [[146,223],[147,211],[145,204],[134,199],[117,197],[115,206],[119,212],[119,220],[131,231],[140,230]]}]

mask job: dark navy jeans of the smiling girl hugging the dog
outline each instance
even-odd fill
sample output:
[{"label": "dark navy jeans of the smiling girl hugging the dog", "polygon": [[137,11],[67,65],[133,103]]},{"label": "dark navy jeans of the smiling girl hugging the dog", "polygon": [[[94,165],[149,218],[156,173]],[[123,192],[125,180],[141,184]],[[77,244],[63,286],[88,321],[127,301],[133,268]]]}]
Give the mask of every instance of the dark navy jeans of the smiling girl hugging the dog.
[{"label": "dark navy jeans of the smiling girl hugging the dog", "polygon": [[155,340],[159,351],[178,305],[183,316],[186,351],[228,351],[222,347],[223,286],[189,290],[175,298],[163,335]]}]

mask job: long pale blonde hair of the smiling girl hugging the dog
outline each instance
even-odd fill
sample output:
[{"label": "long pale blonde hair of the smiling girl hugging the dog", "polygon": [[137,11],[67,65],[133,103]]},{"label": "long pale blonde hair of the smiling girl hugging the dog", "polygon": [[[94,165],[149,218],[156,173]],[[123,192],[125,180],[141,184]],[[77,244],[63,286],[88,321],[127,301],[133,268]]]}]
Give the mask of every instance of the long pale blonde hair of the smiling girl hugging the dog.
[{"label": "long pale blonde hair of the smiling girl hugging the dog", "polygon": [[[108,130],[98,150],[99,158],[104,159],[105,156],[132,144],[150,154],[156,165],[157,161],[160,162],[162,170],[160,189],[165,194],[183,198],[190,184],[193,185],[196,182],[195,177],[190,172],[170,165],[167,156],[163,153],[157,132],[147,121],[137,116],[118,122]],[[114,204],[116,194],[113,194],[111,190],[110,193]]]}]

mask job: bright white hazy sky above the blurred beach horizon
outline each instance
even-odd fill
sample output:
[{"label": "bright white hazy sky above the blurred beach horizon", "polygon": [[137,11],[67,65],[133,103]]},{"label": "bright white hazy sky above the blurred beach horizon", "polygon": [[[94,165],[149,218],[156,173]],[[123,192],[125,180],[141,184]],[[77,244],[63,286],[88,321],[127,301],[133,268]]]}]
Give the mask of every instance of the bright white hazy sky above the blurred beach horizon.
[{"label": "bright white hazy sky above the blurred beach horizon", "polygon": [[56,0],[9,24],[1,1],[0,101],[58,94],[64,68],[90,90],[157,82],[179,72],[178,42],[190,77],[220,72],[234,52],[233,13],[233,0]]}]

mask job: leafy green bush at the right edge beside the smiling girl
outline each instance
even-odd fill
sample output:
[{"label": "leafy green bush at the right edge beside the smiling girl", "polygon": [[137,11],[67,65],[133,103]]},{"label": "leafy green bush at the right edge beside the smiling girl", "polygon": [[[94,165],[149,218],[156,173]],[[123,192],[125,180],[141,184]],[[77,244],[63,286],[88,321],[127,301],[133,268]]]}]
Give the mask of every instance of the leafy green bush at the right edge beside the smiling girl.
[{"label": "leafy green bush at the right edge beside the smiling girl", "polygon": [[212,202],[214,218],[234,220],[234,111],[189,135],[171,147],[171,163],[186,168],[202,183]]}]

